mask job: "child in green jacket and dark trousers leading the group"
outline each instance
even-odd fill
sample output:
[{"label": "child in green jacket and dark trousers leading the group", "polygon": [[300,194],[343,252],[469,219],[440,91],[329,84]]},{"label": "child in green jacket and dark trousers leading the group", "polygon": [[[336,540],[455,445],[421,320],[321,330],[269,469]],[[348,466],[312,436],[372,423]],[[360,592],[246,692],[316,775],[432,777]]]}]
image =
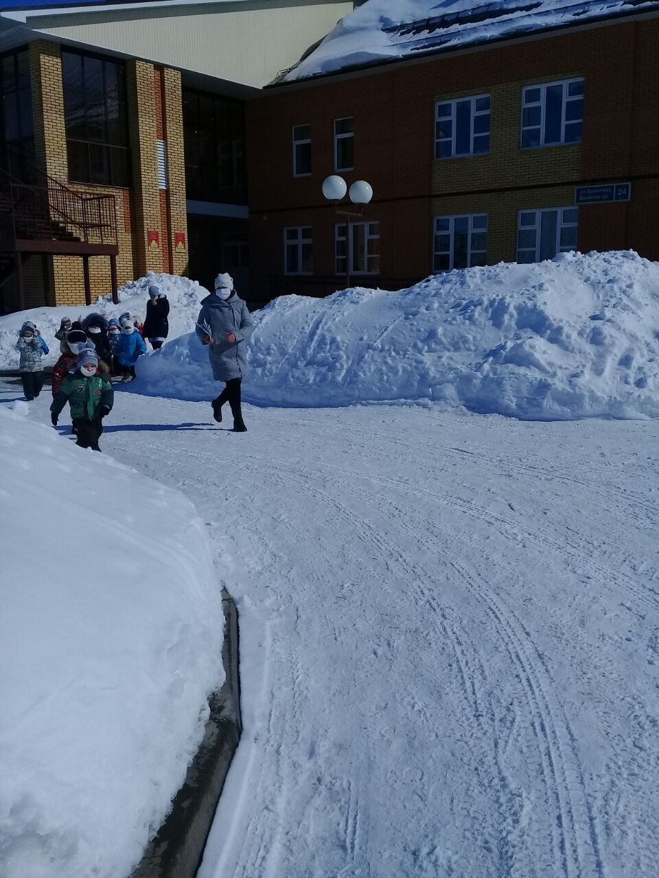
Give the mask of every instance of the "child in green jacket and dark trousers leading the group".
[{"label": "child in green jacket and dark trousers leading the group", "polygon": [[112,411],[112,385],[98,371],[98,354],[91,345],[84,345],[76,360],[76,371],[62,381],[50,407],[51,421],[57,426],[62,408],[67,402],[71,409],[76,445],[100,451],[98,439],[103,433],[103,419]]}]

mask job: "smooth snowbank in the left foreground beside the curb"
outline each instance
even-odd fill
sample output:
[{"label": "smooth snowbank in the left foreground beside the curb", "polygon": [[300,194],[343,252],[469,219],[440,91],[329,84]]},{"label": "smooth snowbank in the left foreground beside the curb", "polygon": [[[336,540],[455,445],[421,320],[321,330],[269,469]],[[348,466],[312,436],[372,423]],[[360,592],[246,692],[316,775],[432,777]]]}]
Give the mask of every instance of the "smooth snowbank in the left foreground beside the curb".
[{"label": "smooth snowbank in the left foreground beside the curb", "polygon": [[181,494],[7,408],[0,517],[0,874],[126,878],[223,680],[210,541]]}]

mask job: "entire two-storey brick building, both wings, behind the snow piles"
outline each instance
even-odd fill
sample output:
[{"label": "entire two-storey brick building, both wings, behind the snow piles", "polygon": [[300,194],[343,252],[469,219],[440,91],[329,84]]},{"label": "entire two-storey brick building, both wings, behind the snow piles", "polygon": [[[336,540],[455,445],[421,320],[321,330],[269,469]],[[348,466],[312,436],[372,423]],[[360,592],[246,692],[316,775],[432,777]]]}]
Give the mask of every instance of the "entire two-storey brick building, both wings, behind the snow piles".
[{"label": "entire two-storey brick building, both wings, behind the snow piles", "polygon": [[[0,207],[25,169],[51,178],[49,242],[21,245],[23,302],[80,303],[146,270],[210,284],[221,267],[257,303],[334,291],[348,267],[398,288],[574,248],[659,259],[659,3],[581,4],[551,27],[533,11],[521,27],[510,4],[496,39],[479,7],[399,27],[466,39],[323,67],[328,43],[299,62],[353,5],[0,14]],[[373,185],[361,216],[322,197],[335,173]],[[9,311],[22,302],[4,232]]]}]

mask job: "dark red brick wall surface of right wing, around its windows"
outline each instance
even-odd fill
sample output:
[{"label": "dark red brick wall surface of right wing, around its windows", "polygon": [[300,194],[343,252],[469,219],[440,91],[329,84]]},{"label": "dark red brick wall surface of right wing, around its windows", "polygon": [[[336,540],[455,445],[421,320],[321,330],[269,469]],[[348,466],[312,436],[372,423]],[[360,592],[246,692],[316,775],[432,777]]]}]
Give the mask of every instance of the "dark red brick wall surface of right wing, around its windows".
[{"label": "dark red brick wall surface of right wing, around its windows", "polygon": [[[582,146],[520,150],[523,85],[564,76],[585,77]],[[434,161],[435,100],[478,91],[494,96],[497,89],[502,100],[508,96],[512,110],[507,116],[498,112],[493,100],[490,155]],[[333,120],[344,116],[355,119],[355,170],[342,176],[349,185],[359,178],[373,185],[365,218],[380,220],[380,277],[426,276],[431,270],[431,216],[459,210],[464,193],[481,193],[470,195],[469,205],[481,199],[483,212],[494,215],[505,203],[505,210],[514,214],[506,220],[511,241],[489,252],[489,262],[497,262],[515,252],[518,209],[551,206],[548,197],[555,206],[569,205],[576,183],[607,179],[632,179],[632,201],[582,207],[580,248],[633,247],[659,259],[659,182],[653,178],[659,177],[657,19],[584,27],[329,77],[266,91],[250,102],[246,140],[255,298],[267,289],[269,274],[283,274],[286,226],[313,226],[315,274],[334,272],[336,219],[321,186],[334,173]],[[312,175],[295,178],[292,128],[302,124],[311,126]],[[548,196],[550,190],[554,194]],[[293,290],[294,282],[290,285]]]}]

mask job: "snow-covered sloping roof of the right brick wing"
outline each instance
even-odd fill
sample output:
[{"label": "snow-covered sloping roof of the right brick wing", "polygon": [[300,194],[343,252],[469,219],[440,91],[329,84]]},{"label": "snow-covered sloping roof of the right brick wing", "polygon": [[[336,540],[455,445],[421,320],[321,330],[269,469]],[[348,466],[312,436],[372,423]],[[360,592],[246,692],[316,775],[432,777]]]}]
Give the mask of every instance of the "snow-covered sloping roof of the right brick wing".
[{"label": "snow-covered sloping roof of the right brick wing", "polygon": [[367,0],[283,82],[659,10],[659,0]]}]

